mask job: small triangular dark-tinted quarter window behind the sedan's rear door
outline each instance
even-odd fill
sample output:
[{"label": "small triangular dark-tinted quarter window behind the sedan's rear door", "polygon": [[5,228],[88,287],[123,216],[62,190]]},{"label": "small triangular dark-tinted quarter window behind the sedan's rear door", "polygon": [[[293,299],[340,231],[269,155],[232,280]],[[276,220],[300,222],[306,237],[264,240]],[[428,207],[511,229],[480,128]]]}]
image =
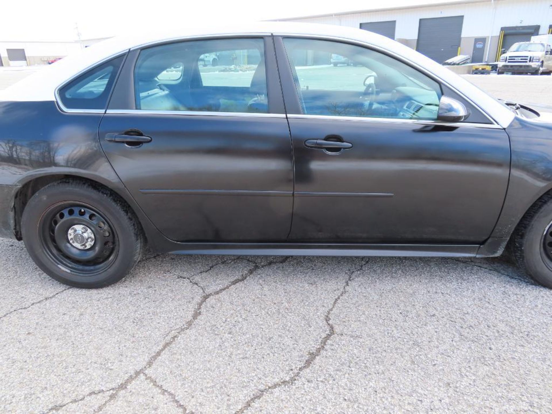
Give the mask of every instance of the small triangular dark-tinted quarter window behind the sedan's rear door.
[{"label": "small triangular dark-tinted quarter window behind the sedan's rear door", "polygon": [[68,109],[105,109],[122,62],[123,56],[116,57],[67,83],[59,91],[63,106]]}]

